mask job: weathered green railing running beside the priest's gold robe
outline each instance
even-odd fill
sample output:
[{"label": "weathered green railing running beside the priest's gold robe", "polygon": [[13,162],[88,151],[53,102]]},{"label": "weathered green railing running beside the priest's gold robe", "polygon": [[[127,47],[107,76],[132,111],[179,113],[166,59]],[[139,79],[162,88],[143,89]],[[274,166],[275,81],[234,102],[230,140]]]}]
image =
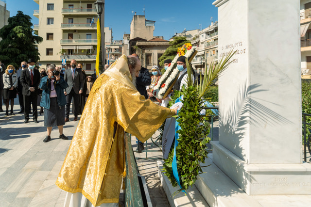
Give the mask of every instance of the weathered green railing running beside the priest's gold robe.
[{"label": "weathered green railing running beside the priest's gold robe", "polygon": [[125,133],[126,178],[124,204],[126,207],[152,207],[150,195],[143,176],[139,175],[134,156],[131,135]]}]

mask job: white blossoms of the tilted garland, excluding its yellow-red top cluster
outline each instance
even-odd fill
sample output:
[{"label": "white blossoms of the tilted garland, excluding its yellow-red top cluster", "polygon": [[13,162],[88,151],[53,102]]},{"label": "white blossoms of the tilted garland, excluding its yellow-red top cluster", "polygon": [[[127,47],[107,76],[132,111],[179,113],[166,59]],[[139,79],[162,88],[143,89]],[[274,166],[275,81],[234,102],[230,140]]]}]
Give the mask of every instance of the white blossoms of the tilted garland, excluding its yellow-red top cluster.
[{"label": "white blossoms of the tilted garland, excluding its yellow-red top cluster", "polygon": [[[185,57],[189,59],[192,54],[194,53],[196,47],[192,47],[190,50],[187,50]],[[174,64],[177,62],[179,55],[177,54],[176,57],[174,58]],[[152,94],[157,97],[157,98],[163,98],[167,90],[169,90],[170,86],[173,84],[174,80],[178,77],[180,71],[175,67],[173,70],[173,61],[171,66],[165,71],[165,73],[161,76],[160,80],[156,84]],[[170,69],[170,70],[169,70]],[[172,72],[171,72],[172,70]],[[165,76],[165,77],[163,77]],[[162,79],[163,78],[163,79]],[[161,86],[165,84],[163,88]]]}]

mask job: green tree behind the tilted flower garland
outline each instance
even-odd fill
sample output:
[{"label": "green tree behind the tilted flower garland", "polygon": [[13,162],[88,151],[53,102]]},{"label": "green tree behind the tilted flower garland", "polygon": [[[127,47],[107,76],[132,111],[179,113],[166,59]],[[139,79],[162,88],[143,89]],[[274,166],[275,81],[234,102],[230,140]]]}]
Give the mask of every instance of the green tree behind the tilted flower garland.
[{"label": "green tree behind the tilted flower garland", "polygon": [[171,59],[173,61],[174,57],[177,55],[177,49],[186,43],[190,43],[186,37],[174,37],[174,40],[170,42],[171,46],[168,47],[164,54],[159,58],[159,64],[163,67],[166,59]]}]

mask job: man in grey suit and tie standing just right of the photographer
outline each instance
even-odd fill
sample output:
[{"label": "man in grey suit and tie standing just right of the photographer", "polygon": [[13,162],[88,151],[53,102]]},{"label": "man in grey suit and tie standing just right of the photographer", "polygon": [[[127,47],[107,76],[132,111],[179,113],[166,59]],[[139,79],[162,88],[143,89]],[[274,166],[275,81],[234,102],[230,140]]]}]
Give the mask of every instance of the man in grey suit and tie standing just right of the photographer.
[{"label": "man in grey suit and tie standing just right of the photographer", "polygon": [[[69,111],[72,97],[74,99],[74,107],[75,109],[79,109],[80,101],[79,96],[83,91],[83,73],[82,70],[76,68],[77,62],[76,60],[70,61],[70,69],[65,70],[64,79],[68,83],[68,87],[64,89],[64,94],[66,96],[66,110],[65,110],[65,122],[69,121]],[[78,120],[78,110],[74,111],[74,119],[73,121]]]}]

